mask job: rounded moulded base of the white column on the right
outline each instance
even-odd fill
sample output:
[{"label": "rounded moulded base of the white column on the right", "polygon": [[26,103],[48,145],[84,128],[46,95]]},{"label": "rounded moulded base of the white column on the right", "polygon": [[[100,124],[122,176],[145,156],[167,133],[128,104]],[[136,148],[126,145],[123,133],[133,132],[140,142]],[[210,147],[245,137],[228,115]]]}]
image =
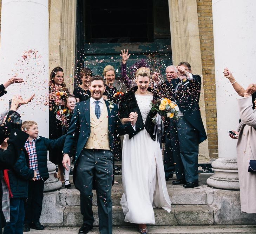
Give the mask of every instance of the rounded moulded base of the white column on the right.
[{"label": "rounded moulded base of the white column on the right", "polygon": [[210,187],[239,190],[236,158],[218,158],[212,162],[214,175],[207,179]]}]

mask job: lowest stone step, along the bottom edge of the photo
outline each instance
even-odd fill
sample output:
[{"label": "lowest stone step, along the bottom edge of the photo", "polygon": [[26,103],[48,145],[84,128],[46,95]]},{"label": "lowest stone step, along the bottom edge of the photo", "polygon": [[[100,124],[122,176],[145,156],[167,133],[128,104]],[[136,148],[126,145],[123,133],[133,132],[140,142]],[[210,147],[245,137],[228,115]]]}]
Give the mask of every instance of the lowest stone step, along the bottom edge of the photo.
[{"label": "lowest stone step, along the bottom edge of the photo", "polygon": [[[49,227],[45,230],[31,229],[30,234],[77,234],[79,227]],[[93,230],[88,234],[98,234],[99,228],[93,227]],[[138,234],[137,227],[124,227],[113,226],[113,234]],[[211,225],[211,226],[152,226],[149,227],[149,234],[167,234],[167,233],[179,233],[179,234],[255,234],[256,228],[253,226],[245,225]]]}]

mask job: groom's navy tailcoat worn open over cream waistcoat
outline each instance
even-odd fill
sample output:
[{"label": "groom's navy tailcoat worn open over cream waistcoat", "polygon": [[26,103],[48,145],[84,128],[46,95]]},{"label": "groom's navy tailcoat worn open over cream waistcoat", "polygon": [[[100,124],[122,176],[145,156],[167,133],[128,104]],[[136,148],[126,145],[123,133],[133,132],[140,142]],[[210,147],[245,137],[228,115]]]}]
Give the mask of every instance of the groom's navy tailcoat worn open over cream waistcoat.
[{"label": "groom's navy tailcoat worn open over cream waistcoat", "polygon": [[[133,127],[131,123],[126,123],[122,125],[118,117],[118,107],[116,104],[113,104],[114,108],[109,109],[110,103],[105,101],[107,106],[107,113],[109,119],[109,140],[110,148],[113,150],[113,142],[116,139],[117,135],[124,135],[133,132]],[[75,166],[78,160],[81,151],[83,150],[88,138],[91,133],[91,118],[90,118],[90,99],[82,102],[78,102],[73,112],[73,116],[70,122],[70,127],[67,132],[65,145],[63,148],[64,154],[67,153],[70,155],[72,152],[72,147],[76,144],[76,154],[75,154]],[[71,156],[71,155],[70,155]]]}]

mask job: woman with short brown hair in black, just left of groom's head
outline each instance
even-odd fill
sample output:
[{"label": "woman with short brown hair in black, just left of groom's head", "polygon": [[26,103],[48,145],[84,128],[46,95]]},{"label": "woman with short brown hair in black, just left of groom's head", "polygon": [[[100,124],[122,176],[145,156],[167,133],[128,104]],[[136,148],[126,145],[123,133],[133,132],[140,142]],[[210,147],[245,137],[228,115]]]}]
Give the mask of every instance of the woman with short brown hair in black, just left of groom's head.
[{"label": "woman with short brown hair in black, just left of groom's head", "polygon": [[89,90],[90,80],[92,78],[92,71],[90,68],[83,68],[79,73],[82,83],[74,89],[73,95],[76,97],[77,102],[85,101],[91,97]]}]

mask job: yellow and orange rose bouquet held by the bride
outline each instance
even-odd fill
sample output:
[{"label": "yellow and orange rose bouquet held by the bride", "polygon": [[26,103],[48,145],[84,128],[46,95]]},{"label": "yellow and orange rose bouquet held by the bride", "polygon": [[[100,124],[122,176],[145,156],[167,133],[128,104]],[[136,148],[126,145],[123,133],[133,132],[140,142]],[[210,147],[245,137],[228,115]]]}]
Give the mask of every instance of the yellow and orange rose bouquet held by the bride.
[{"label": "yellow and orange rose bouquet held by the bride", "polygon": [[[171,119],[179,119],[179,107],[174,101],[168,98],[158,99],[151,102],[151,111],[157,111],[160,116],[164,116]],[[158,115],[152,118],[152,122],[156,123]]]}]

